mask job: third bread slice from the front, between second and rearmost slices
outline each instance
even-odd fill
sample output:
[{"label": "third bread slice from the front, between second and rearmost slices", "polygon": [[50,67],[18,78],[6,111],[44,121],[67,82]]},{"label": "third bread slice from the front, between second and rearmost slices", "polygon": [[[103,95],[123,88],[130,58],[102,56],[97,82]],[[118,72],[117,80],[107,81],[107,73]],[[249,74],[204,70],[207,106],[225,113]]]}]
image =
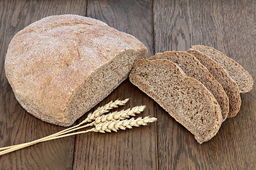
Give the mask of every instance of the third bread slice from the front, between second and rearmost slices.
[{"label": "third bread slice from the front, between second and rearmost slices", "polygon": [[228,76],[228,73],[225,72],[225,69],[220,66],[213,59],[204,55],[203,53],[197,50],[188,50],[189,54],[194,55],[201,64],[203,64],[210,74],[223,86],[225,93],[228,95],[229,99],[229,113],[228,117],[235,116],[240,110],[241,98],[239,94],[238,84]]}]

